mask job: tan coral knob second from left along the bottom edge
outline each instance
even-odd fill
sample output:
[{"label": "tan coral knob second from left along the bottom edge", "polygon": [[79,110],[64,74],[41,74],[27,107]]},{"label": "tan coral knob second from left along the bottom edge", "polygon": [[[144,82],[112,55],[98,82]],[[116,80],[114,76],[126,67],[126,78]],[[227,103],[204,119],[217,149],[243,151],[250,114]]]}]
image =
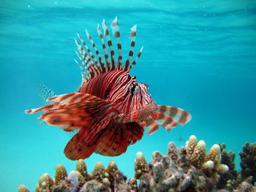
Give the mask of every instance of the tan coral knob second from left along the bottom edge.
[{"label": "tan coral knob second from left along the bottom edge", "polygon": [[53,185],[53,179],[50,178],[49,174],[45,173],[41,177],[39,177],[36,192],[52,192]]}]

